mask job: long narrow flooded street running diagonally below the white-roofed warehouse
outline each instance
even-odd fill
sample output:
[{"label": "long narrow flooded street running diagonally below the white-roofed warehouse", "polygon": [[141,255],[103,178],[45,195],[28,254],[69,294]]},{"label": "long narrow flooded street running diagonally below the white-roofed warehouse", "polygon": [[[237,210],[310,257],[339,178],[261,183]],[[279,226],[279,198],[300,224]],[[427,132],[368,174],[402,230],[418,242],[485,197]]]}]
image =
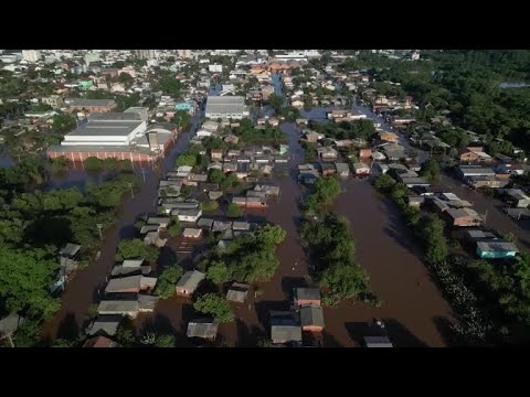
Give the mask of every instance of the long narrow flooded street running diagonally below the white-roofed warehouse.
[{"label": "long narrow flooded street running diagonally below the white-roofed warehouse", "polygon": [[192,131],[195,130],[199,121],[200,114],[194,117],[190,130],[178,137],[177,143],[159,165],[155,169],[145,169],[145,182],[140,190],[134,197],[127,196],[124,204],[117,208],[120,214],[119,219],[104,234],[100,259],[93,260],[66,286],[62,296],[61,310],[44,325],[45,339],[54,340],[57,336],[73,334],[85,325],[88,307],[99,300],[99,293],[103,292],[106,279],[115,264],[114,256],[119,240],[135,237],[134,223],[139,215],[156,212],[160,176],[173,167],[177,155],[188,148]]}]

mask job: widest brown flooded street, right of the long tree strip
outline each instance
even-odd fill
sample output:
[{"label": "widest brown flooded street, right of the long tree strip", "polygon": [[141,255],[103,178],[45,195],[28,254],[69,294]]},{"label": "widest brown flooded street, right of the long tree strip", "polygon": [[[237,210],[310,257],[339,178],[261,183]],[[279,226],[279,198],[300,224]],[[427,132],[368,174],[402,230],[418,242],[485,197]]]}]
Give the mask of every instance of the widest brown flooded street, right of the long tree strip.
[{"label": "widest brown flooded street, right of the long tree strip", "polygon": [[381,318],[396,346],[445,346],[451,308],[421,261],[399,211],[368,180],[348,180],[342,185],[335,210],[349,219],[357,260],[383,304],[344,302],[325,309],[327,331],[339,345],[352,346],[352,337],[360,336],[359,323]]}]

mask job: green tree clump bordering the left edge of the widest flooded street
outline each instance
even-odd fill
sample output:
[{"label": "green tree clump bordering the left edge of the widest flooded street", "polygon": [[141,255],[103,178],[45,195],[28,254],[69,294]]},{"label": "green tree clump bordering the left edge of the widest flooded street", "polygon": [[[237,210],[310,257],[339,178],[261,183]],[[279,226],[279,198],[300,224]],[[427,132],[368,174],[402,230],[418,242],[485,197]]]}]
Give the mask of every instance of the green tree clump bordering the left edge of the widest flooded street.
[{"label": "green tree clump bordering the left edge of the widest flooded street", "polygon": [[316,259],[315,277],[324,304],[332,307],[350,298],[377,302],[367,272],[356,261],[353,236],[346,218],[326,213],[319,222],[305,221],[300,237]]}]

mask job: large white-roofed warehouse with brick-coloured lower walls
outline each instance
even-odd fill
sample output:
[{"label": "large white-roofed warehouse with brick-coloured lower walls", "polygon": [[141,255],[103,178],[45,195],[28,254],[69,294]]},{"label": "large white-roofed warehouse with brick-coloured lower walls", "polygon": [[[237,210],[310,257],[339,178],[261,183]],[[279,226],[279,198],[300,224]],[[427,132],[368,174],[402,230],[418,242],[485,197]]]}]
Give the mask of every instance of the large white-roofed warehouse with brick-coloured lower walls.
[{"label": "large white-roofed warehouse with brick-coloured lower walls", "polygon": [[150,162],[163,155],[177,136],[172,125],[147,127],[138,112],[92,114],[88,121],[67,133],[61,146],[50,147],[52,159],[71,161],[117,158]]}]

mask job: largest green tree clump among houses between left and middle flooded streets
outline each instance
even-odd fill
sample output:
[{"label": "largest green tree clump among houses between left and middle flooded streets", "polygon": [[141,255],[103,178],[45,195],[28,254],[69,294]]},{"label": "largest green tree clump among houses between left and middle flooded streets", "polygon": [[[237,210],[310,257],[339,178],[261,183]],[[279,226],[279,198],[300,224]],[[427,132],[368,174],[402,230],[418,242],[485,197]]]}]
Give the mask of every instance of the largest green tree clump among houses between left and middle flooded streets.
[{"label": "largest green tree clump among houses between left and middle flooded streets", "polygon": [[268,281],[279,266],[275,250],[285,235],[282,227],[266,225],[236,237],[226,249],[212,250],[199,267],[215,283]]}]

